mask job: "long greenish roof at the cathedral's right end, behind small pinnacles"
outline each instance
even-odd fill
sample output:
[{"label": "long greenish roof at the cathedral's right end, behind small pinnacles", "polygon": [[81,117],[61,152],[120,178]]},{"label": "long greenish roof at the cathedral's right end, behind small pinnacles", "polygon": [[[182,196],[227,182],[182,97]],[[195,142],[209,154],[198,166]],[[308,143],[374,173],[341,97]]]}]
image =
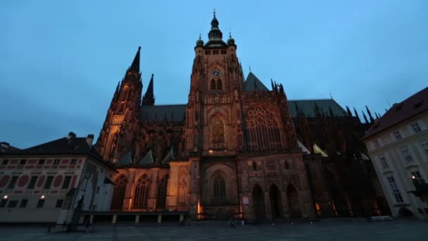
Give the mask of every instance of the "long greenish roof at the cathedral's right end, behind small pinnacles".
[{"label": "long greenish roof at the cathedral's right end, behind small pinnacles", "polygon": [[334,99],[303,99],[303,100],[289,100],[289,111],[292,118],[297,117],[296,106],[303,114],[308,118],[315,118],[315,108],[318,106],[320,113],[326,113],[329,116],[329,109],[332,109],[334,116],[345,117],[347,116],[346,111],[337,104]]}]

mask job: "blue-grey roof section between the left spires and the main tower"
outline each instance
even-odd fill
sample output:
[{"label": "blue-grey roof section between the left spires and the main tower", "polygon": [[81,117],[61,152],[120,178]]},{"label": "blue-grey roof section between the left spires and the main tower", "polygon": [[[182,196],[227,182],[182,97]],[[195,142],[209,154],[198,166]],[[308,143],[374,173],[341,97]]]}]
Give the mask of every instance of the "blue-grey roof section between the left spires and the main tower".
[{"label": "blue-grey roof section between the left spires and the main tower", "polygon": [[158,106],[142,106],[140,113],[141,121],[184,121],[187,104],[168,104]]}]

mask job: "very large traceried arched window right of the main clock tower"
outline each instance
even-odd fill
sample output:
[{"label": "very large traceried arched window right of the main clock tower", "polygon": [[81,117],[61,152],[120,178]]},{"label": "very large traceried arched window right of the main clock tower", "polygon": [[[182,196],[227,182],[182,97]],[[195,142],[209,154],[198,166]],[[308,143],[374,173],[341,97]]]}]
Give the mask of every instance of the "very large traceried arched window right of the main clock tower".
[{"label": "very large traceried arched window right of the main clock tower", "polygon": [[250,151],[282,148],[276,118],[267,109],[256,107],[247,112],[246,132]]}]

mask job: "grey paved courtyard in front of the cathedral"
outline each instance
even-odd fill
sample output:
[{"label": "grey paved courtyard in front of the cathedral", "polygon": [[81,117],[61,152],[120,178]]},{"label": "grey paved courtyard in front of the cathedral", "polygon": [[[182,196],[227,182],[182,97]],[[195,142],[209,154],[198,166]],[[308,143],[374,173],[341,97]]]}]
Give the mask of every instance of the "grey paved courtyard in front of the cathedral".
[{"label": "grey paved courtyard in front of the cathedral", "polygon": [[260,226],[110,226],[95,232],[64,233],[61,228],[1,226],[0,240],[428,240],[427,221],[362,219],[322,220],[318,223],[281,223]]}]

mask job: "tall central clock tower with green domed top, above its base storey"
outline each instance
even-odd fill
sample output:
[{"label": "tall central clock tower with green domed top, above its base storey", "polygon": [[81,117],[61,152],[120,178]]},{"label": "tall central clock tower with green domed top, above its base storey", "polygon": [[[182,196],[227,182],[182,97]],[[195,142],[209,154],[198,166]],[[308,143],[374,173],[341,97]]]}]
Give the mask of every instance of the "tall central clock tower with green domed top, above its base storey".
[{"label": "tall central clock tower with green domed top, above its base storey", "polygon": [[208,42],[196,41],[185,123],[186,156],[234,155],[242,149],[241,89],[243,75],[237,45],[227,43],[217,18],[211,21]]}]

